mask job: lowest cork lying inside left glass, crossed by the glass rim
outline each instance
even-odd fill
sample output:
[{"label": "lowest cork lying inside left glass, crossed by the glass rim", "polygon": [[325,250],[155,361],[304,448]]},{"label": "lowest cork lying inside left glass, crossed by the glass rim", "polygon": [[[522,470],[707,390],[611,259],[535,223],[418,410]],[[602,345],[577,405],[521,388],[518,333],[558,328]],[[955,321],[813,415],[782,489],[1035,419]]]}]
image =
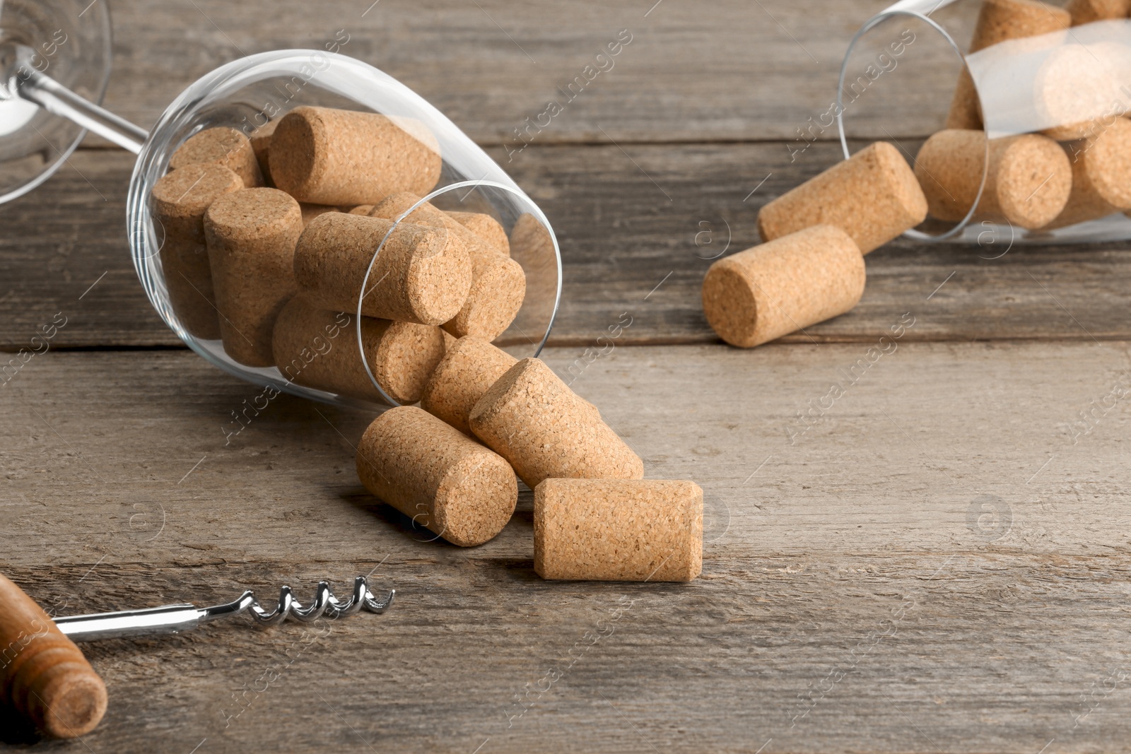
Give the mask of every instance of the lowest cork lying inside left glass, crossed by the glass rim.
[{"label": "lowest cork lying inside left glass, crossed by the glass rim", "polygon": [[[443,357],[440,328],[363,317],[365,359],[377,383],[398,404],[415,404]],[[339,396],[387,402],[373,387],[357,350],[353,314],[320,309],[301,294],[275,320],[275,365],[291,382]]]}]

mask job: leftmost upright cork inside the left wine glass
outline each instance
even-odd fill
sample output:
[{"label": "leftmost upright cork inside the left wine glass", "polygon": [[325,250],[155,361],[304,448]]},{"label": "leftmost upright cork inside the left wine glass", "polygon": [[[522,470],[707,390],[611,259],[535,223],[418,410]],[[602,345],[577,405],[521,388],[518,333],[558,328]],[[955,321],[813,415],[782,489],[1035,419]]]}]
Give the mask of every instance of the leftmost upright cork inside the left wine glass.
[{"label": "leftmost upright cork inside the left wine glass", "polygon": [[205,211],[225,193],[243,188],[240,176],[221,165],[187,165],[163,175],[153,187],[153,217],[161,244],[161,267],[169,303],[192,336],[219,338],[219,317],[213,287]]}]

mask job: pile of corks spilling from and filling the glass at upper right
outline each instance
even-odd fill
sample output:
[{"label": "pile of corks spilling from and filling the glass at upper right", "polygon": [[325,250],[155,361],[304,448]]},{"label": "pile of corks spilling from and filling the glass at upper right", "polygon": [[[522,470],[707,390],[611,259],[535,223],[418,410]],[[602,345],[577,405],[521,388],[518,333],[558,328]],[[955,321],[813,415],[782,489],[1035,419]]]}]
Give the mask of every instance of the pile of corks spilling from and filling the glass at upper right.
[{"label": "pile of corks spilling from and filling the glass at upper right", "polygon": [[[970,52],[993,44],[1126,18],[1131,0],[985,0]],[[1062,118],[1071,121],[1071,118]],[[912,170],[873,144],[761,208],[761,245],[715,262],[702,285],[707,321],[726,343],[753,347],[849,311],[864,292],[863,255],[926,219],[988,220],[1054,229],[1131,210],[1131,120],[1068,122],[988,141],[964,69],[946,130]],[[985,187],[978,199],[985,171]]]}]

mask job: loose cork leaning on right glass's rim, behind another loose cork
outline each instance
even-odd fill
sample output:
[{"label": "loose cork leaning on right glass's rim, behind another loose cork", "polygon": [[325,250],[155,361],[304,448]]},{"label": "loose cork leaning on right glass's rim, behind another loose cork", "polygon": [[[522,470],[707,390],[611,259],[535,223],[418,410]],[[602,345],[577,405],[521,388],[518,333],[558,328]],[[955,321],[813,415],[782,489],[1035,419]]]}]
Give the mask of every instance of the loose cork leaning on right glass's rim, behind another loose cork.
[{"label": "loose cork leaning on right glass's rim, behind another loose cork", "polygon": [[912,168],[898,149],[878,141],[762,207],[758,231],[772,241],[835,225],[866,254],[925,217],[926,199]]}]

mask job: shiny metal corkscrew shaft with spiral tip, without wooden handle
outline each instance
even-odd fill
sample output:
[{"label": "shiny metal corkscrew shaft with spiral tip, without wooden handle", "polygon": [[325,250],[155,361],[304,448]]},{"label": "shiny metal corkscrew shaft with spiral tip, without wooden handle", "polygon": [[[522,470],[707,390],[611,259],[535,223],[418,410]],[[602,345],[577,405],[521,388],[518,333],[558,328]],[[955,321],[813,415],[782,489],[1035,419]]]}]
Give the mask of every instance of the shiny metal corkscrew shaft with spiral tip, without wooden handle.
[{"label": "shiny metal corkscrew shaft with spiral tip, without wooden handle", "polygon": [[344,601],[334,596],[329,583],[322,581],[319,582],[314,599],[309,605],[296,600],[291,587],[283,587],[279,590],[278,604],[270,610],[265,609],[256,599],[254,592],[248,590],[231,603],[211,607],[197,607],[189,604],[164,605],[140,610],[69,615],[54,618],[54,622],[59,630],[72,641],[95,641],[97,639],[181,633],[195,629],[201,623],[241,613],[249,613],[254,618],[256,624],[261,626],[275,625],[288,617],[309,623],[322,615],[336,618],[352,615],[362,609],[369,613],[383,613],[392,604],[395,595],[396,590],[390,590],[385,599],[377,599],[369,590],[365,577],[357,577],[354,580],[353,595]]}]

